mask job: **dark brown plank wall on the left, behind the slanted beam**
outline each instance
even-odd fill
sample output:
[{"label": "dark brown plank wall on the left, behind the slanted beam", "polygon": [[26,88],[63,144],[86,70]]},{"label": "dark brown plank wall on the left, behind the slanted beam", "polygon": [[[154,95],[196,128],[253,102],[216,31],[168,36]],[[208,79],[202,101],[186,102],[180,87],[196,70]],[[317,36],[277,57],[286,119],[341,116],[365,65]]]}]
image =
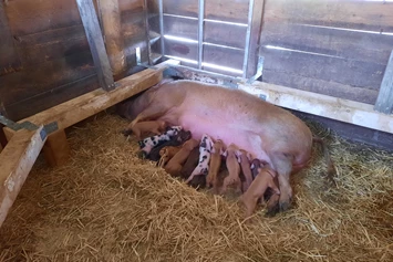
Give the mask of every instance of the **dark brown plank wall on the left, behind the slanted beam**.
[{"label": "dark brown plank wall on the left, behind the slanted beam", "polygon": [[[0,1],[0,111],[18,120],[99,87],[75,0]],[[97,2],[94,1],[96,11]],[[143,0],[120,0],[127,66],[146,56]],[[99,18],[100,18],[100,12]]]}]

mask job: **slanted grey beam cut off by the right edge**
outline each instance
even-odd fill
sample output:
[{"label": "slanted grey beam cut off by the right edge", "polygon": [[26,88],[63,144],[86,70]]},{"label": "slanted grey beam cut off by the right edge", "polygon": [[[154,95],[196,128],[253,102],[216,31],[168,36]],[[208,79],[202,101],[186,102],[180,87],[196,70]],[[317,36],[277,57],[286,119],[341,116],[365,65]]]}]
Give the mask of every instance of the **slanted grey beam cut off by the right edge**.
[{"label": "slanted grey beam cut off by the right edge", "polygon": [[387,61],[374,109],[384,114],[393,113],[393,50]]}]

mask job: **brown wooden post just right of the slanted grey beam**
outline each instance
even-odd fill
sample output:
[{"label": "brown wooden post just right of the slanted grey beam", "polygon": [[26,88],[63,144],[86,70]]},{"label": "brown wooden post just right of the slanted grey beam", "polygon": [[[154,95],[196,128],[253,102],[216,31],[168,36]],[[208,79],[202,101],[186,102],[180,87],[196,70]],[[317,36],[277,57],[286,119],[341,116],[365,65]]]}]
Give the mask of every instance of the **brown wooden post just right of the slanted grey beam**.
[{"label": "brown wooden post just right of the slanted grey beam", "polygon": [[110,56],[113,75],[116,76],[126,70],[118,0],[99,0],[99,8],[106,51]]}]

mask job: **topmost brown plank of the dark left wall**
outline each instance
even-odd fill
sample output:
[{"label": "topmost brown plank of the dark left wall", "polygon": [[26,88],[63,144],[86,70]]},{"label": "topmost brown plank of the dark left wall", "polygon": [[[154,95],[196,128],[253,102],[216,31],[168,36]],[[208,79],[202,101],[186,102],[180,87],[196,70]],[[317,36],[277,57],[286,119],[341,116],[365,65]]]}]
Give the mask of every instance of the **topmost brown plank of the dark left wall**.
[{"label": "topmost brown plank of the dark left wall", "polygon": [[81,24],[75,0],[7,1],[6,12],[18,36]]}]

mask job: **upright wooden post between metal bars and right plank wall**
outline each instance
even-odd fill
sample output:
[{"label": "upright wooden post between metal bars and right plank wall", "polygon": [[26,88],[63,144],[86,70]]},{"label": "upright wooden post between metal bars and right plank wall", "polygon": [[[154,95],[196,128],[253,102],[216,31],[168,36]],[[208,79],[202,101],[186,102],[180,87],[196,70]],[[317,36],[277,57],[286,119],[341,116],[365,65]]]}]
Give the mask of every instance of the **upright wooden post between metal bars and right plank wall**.
[{"label": "upright wooden post between metal bars and right plank wall", "polygon": [[249,45],[246,45],[248,52],[245,55],[248,55],[247,63],[244,66],[245,76],[246,78],[251,77],[257,73],[258,67],[258,56],[259,56],[259,42],[260,42],[260,34],[263,23],[263,10],[265,10],[265,0],[254,0],[254,8],[252,8],[252,19],[251,23],[249,24],[250,28],[250,40]]}]

